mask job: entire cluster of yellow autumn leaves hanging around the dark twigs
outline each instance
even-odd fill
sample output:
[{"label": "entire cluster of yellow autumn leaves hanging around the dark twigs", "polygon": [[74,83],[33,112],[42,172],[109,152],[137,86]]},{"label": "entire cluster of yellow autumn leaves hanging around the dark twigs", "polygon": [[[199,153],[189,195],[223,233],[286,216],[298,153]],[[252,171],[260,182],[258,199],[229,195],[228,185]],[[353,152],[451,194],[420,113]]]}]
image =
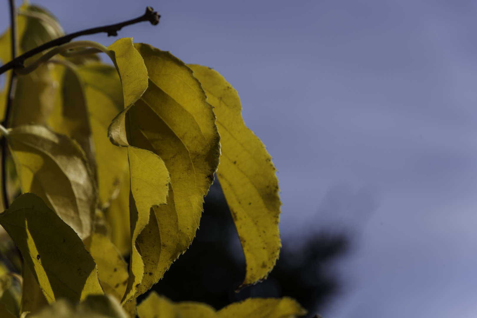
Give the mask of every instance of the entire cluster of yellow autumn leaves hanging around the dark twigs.
[{"label": "entire cluster of yellow autumn leaves hanging around the dark twigs", "polygon": [[[28,3],[18,30],[20,53],[63,35],[50,13]],[[8,31],[0,44],[7,62]],[[216,173],[246,256],[242,286],[265,279],[280,251],[278,180],[242,120],[237,92],[218,72],[131,38],[91,45],[114,67],[91,53],[54,55],[17,76],[8,129],[0,128],[22,194],[0,213],[0,225],[23,256],[23,289],[0,264],[0,316],[135,317],[136,298],[192,243]],[[0,117],[7,92],[0,92]],[[287,297],[216,311],[151,293],[137,314],[285,318],[305,311]]]}]

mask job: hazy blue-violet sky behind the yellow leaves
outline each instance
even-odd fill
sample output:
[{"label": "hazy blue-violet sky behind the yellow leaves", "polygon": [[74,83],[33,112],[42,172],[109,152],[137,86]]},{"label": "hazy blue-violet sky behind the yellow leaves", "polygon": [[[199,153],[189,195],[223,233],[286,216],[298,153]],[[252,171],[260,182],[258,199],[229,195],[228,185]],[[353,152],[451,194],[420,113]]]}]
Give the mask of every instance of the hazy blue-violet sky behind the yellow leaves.
[{"label": "hazy blue-violet sky behind the yellow leaves", "polygon": [[[8,24],[0,4],[0,27]],[[280,179],[281,231],[353,231],[326,318],[477,316],[477,1],[36,1],[211,66]],[[109,44],[105,34],[91,37]]]}]

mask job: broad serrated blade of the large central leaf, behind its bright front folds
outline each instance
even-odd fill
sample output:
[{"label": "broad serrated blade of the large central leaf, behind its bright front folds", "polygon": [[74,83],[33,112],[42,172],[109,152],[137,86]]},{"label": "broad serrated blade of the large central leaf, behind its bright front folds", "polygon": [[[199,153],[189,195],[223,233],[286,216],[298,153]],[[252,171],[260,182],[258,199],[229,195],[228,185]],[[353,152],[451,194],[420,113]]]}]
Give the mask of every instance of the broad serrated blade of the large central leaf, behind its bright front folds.
[{"label": "broad serrated blade of the large central leaf, behind its bright front folds", "polygon": [[[171,176],[167,205],[154,209],[155,219],[151,218],[144,239],[139,240],[148,264],[144,263],[144,281],[137,297],[192,242],[203,197],[214,180],[220,144],[212,107],[191,70],[169,52],[146,44],[135,47],[148,69],[149,86],[134,105],[116,116],[108,135],[117,145],[158,154]],[[152,246],[149,236],[160,237],[161,246]]]}]

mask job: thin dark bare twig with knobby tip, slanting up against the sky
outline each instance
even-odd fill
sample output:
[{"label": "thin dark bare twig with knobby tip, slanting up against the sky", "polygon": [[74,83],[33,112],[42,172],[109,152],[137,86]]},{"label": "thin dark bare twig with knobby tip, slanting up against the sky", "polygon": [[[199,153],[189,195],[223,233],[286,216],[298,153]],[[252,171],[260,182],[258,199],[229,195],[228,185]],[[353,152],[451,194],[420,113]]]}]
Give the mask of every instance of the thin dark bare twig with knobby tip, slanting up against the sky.
[{"label": "thin dark bare twig with knobby tip, slanting up against the sky", "polygon": [[145,14],[142,15],[141,17],[139,17],[139,18],[129,20],[129,21],[125,21],[125,22],[121,22],[121,23],[117,23],[117,24],[106,25],[104,27],[98,27],[98,28],[93,28],[93,29],[88,29],[88,30],[84,30],[84,31],[79,31],[79,32],[67,34],[65,36],[62,36],[61,38],[52,40],[50,42],[46,42],[46,43],[34,48],[33,50],[25,52],[22,55],[20,55],[19,57],[14,58],[10,62],[8,62],[8,63],[6,63],[6,64],[4,64],[3,66],[0,67],[0,74],[2,74],[3,72],[6,72],[6,71],[8,71],[12,68],[23,67],[23,62],[25,62],[25,60],[28,59],[29,57],[31,57],[31,56],[33,56],[37,53],[40,53],[41,51],[50,49],[54,46],[58,46],[58,45],[68,43],[69,41],[71,41],[74,38],[77,38],[79,36],[101,33],[101,32],[108,33],[108,36],[116,36],[117,32],[119,30],[121,30],[123,27],[127,26],[127,25],[131,25],[131,24],[135,24],[135,23],[143,22],[143,21],[149,21],[149,22],[151,22],[152,25],[156,25],[156,24],[159,23],[159,18],[160,17],[161,16],[159,15],[159,13],[155,12],[153,8],[147,7]]}]

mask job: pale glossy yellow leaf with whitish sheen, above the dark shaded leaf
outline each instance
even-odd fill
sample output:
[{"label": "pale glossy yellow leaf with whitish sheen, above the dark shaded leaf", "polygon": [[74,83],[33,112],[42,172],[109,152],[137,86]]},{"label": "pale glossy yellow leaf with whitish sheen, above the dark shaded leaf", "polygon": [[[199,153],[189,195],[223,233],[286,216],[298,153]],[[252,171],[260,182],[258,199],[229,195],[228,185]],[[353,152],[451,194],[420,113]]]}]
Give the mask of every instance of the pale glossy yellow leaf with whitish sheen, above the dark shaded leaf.
[{"label": "pale glossy yellow leaf with whitish sheen, above the dark shaded leaf", "polygon": [[89,236],[97,190],[81,147],[40,125],[14,128],[7,141],[22,192],[39,195],[81,238]]}]

